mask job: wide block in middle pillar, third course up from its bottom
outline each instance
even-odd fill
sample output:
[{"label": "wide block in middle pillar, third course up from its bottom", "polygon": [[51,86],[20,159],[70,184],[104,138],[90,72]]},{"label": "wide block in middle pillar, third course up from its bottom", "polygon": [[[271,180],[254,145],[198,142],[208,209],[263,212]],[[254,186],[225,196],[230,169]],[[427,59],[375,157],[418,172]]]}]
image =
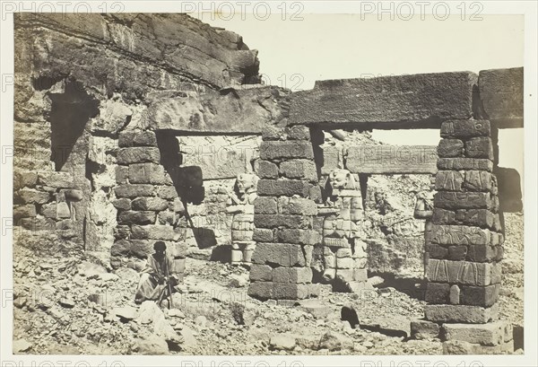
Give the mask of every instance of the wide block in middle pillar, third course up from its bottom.
[{"label": "wide block in middle pillar, third course up from its bottom", "polygon": [[304,267],[306,265],[301,246],[289,243],[258,243],[252,255],[252,262],[280,267]]}]

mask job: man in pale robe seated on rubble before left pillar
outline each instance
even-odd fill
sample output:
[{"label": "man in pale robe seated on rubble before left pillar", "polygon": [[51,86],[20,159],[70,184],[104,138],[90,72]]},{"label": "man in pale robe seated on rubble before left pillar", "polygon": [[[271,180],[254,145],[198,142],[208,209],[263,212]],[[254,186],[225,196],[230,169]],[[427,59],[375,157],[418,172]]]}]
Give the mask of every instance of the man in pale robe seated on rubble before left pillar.
[{"label": "man in pale robe seated on rubble before left pillar", "polygon": [[169,282],[171,287],[178,284],[175,276],[170,275],[172,261],[166,255],[166,244],[159,240],[153,244],[153,249],[155,253],[148,257],[147,265],[140,275],[140,282],[134,295],[136,303],[157,301],[161,293],[166,292]]}]

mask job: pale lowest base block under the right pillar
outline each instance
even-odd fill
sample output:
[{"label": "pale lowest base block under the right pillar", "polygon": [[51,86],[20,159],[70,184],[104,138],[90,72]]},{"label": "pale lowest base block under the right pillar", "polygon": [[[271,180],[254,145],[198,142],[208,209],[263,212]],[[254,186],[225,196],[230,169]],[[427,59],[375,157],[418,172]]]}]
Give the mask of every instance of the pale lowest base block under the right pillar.
[{"label": "pale lowest base block under the right pillar", "polygon": [[487,324],[443,324],[445,340],[460,340],[479,345],[501,345],[512,340],[512,324],[493,321]]}]

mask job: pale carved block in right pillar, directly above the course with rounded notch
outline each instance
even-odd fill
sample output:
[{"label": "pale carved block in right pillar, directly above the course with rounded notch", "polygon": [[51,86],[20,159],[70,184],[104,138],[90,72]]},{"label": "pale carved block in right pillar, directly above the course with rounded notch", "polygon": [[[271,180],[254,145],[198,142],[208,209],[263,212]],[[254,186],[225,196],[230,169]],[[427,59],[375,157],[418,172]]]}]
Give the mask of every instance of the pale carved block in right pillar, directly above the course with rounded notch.
[{"label": "pale carved block in right pillar, directly above the course with rounded notch", "polygon": [[428,281],[438,283],[485,286],[491,284],[491,273],[492,267],[490,263],[430,258],[426,266],[426,277]]}]

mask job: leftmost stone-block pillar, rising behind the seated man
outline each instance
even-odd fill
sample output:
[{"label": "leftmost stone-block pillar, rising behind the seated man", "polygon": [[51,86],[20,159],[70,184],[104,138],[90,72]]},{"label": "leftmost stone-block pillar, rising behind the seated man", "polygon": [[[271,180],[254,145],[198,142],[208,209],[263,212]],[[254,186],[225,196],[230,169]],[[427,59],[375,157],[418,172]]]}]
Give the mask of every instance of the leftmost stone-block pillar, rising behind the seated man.
[{"label": "leftmost stone-block pillar, rising behind the seated man", "polygon": [[[134,267],[153,253],[162,240],[173,258],[172,273],[183,277],[187,244],[178,226],[183,205],[173,181],[161,165],[161,152],[152,131],[126,131],[119,135],[117,152],[116,241],[112,267]],[[184,219],[184,218],[182,218]]]}]

